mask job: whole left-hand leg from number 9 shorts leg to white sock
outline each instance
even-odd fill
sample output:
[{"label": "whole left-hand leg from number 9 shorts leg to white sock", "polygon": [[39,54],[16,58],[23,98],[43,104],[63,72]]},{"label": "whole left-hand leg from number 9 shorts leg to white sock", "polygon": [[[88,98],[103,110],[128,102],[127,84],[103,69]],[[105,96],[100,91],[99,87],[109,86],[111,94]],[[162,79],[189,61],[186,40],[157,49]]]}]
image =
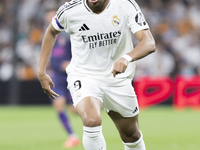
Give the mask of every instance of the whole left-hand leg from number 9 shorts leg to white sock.
[{"label": "whole left-hand leg from number 9 shorts leg to white sock", "polygon": [[102,134],[101,109],[103,92],[98,80],[85,76],[68,76],[74,106],[83,122],[83,146],[85,150],[106,150]]}]

